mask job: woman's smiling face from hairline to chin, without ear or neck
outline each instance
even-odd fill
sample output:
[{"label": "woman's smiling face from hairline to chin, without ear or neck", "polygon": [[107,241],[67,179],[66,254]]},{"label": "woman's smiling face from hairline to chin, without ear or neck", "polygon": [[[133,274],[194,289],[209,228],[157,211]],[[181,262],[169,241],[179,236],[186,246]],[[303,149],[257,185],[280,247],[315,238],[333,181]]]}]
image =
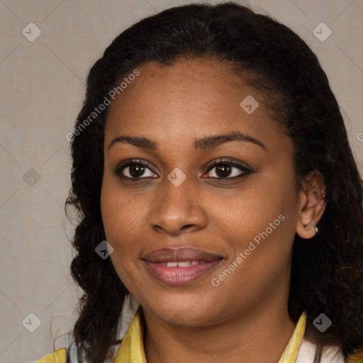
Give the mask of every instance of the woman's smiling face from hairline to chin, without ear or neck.
[{"label": "woman's smiling face from hairline to chin, without ear or neck", "polygon": [[301,197],[264,97],[214,60],[139,71],[105,129],[101,211],[123,284],[190,326],[286,303]]}]

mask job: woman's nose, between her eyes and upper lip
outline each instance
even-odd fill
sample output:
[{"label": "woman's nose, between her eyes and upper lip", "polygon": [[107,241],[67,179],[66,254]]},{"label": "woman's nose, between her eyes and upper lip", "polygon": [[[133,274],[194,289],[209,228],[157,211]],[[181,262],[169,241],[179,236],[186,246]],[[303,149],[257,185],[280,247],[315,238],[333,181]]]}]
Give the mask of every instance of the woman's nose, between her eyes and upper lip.
[{"label": "woman's nose, between her eyes and upper lip", "polygon": [[158,233],[179,235],[206,228],[206,205],[191,178],[175,186],[169,179],[160,185],[160,196],[150,208],[150,225]]}]

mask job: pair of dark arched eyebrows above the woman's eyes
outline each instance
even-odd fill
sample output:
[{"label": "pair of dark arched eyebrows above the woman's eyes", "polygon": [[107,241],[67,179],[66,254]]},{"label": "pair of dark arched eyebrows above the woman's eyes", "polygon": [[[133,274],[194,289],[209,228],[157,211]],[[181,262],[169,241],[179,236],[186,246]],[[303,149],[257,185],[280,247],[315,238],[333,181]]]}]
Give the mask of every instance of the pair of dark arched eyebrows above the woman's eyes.
[{"label": "pair of dark arched eyebrows above the woman's eyes", "polygon": [[[199,138],[194,140],[193,146],[196,150],[205,151],[212,149],[213,147],[218,147],[225,143],[229,143],[230,141],[245,141],[247,143],[258,145],[264,150],[267,150],[261,141],[252,138],[249,135],[245,135],[244,133],[240,133],[240,131],[233,131],[225,135],[211,135]],[[144,150],[157,151],[157,143],[155,143],[155,141],[139,136],[118,136],[118,138],[113,139],[110,145],[108,145],[108,150],[116,143],[128,143]]]}]

